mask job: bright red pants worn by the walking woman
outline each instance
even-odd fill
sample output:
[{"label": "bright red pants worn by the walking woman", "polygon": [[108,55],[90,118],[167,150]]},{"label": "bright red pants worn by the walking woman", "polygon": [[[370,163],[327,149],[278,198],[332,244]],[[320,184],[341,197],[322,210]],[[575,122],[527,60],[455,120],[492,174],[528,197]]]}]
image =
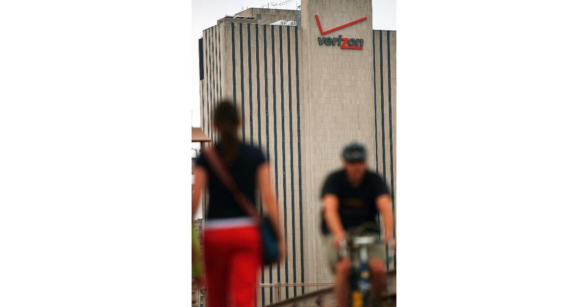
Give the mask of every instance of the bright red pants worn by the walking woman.
[{"label": "bright red pants worn by the walking woman", "polygon": [[203,241],[206,306],[254,307],[262,257],[259,228],[205,228]]}]

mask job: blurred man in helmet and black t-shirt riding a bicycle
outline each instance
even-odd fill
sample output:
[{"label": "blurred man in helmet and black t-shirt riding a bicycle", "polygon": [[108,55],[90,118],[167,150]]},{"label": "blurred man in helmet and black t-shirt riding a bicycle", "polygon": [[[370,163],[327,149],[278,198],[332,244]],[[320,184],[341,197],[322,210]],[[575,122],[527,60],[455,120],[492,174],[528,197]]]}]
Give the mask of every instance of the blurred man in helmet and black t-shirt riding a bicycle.
[{"label": "blurred man in helmet and black t-shirt riding a bicycle", "polygon": [[[322,188],[323,237],[329,265],[335,272],[335,295],[339,307],[348,306],[351,262],[339,257],[342,240],[360,225],[373,224],[372,235],[379,236],[377,213],[383,218],[385,242],[391,242],[394,228],[392,200],[385,181],[366,167],[366,149],[352,143],[343,149],[343,169],[326,178]],[[349,246],[347,244],[346,246]],[[349,252],[347,253],[349,255]],[[379,301],[386,287],[386,249],[384,244],[368,246],[370,280]]]}]

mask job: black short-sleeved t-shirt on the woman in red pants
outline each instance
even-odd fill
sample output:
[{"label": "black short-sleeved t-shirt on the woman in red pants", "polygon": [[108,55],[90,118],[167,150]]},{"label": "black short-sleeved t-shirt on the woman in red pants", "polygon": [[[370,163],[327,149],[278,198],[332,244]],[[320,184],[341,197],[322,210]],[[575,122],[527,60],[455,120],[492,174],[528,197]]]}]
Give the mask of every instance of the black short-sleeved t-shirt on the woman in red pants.
[{"label": "black short-sleeved t-shirt on the woman in red pants", "polygon": [[[222,155],[222,146],[217,144],[215,147]],[[239,190],[253,204],[255,204],[255,190],[257,188],[257,169],[265,162],[266,158],[259,149],[239,143],[239,153],[235,161],[228,167]],[[198,157],[196,165],[204,167],[208,173],[210,203],[208,205],[208,212],[206,212],[206,218],[248,216],[236,203],[230,191],[220,182],[211,166],[209,166],[204,154]]]}]

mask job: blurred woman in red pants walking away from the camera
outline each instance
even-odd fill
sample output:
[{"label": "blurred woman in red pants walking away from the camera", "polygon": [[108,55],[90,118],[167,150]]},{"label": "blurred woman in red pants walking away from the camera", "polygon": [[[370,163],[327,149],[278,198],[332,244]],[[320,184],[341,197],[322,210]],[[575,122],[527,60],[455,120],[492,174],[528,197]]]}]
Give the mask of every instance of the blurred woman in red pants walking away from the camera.
[{"label": "blurred woman in red pants walking away from the camera", "polygon": [[243,203],[255,204],[257,190],[277,235],[280,261],[284,253],[269,164],[259,149],[239,141],[238,114],[232,103],[218,104],[213,126],[220,134],[220,142],[206,149],[196,161],[192,217],[198,210],[202,190],[208,187],[210,195],[203,249],[207,306],[211,307],[256,304],[255,285],[262,265],[259,221]]}]

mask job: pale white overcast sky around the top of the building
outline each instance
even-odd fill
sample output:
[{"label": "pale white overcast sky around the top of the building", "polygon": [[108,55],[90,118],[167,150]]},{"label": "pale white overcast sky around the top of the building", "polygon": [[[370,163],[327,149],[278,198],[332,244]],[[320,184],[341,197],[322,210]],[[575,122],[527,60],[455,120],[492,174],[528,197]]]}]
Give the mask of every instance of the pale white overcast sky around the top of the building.
[{"label": "pale white overcast sky around the top of the building", "polygon": [[[280,3],[283,1],[269,2]],[[296,9],[300,0],[292,0],[288,4],[272,6],[276,9]],[[210,28],[225,15],[238,13],[246,8],[260,8],[268,2],[263,0],[225,0],[203,1],[192,0],[192,126],[200,126],[200,104],[198,92],[198,39],[202,37],[202,30]],[[373,28],[382,30],[396,30],[396,0],[373,0]]]}]

